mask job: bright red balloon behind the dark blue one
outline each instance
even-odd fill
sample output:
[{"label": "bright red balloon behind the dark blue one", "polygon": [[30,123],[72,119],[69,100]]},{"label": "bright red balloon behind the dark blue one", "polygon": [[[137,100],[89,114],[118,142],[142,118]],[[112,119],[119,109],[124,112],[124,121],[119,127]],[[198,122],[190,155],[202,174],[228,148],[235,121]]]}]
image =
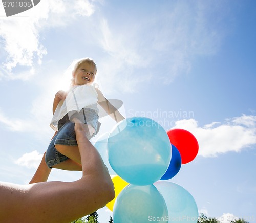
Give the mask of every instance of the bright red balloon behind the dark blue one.
[{"label": "bright red balloon behind the dark blue one", "polygon": [[179,150],[181,163],[186,164],[195,159],[198,153],[196,137],[187,130],[176,128],[167,131],[170,142]]}]

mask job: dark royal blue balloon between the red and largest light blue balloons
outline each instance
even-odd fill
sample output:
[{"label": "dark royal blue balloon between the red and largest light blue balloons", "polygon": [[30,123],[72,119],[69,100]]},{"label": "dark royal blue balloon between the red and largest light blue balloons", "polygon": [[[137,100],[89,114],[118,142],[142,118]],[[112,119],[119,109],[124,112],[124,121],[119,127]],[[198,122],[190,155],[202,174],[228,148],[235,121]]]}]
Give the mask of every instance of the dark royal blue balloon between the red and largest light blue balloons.
[{"label": "dark royal blue balloon between the red and largest light blue balloons", "polygon": [[181,156],[179,150],[172,145],[172,159],[170,165],[160,180],[168,180],[173,178],[181,168]]}]

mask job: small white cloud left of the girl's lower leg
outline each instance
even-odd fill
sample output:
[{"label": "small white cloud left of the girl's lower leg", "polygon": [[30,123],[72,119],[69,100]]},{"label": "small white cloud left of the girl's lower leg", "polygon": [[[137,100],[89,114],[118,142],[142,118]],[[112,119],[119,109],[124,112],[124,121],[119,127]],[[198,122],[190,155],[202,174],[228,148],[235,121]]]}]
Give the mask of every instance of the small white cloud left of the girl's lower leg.
[{"label": "small white cloud left of the girl's lower leg", "polygon": [[37,168],[41,159],[42,154],[37,151],[33,151],[23,154],[22,157],[15,161],[15,163],[20,166],[25,166],[27,168]]}]

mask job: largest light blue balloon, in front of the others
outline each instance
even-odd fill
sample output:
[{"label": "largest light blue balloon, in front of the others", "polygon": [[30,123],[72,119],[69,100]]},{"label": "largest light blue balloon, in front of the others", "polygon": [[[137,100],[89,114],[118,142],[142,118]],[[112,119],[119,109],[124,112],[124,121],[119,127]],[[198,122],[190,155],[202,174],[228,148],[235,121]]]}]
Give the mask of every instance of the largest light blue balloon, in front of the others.
[{"label": "largest light blue balloon, in front of the others", "polygon": [[157,122],[144,117],[119,122],[108,138],[109,162],[126,182],[150,185],[167,170],[172,148],[167,133]]}]

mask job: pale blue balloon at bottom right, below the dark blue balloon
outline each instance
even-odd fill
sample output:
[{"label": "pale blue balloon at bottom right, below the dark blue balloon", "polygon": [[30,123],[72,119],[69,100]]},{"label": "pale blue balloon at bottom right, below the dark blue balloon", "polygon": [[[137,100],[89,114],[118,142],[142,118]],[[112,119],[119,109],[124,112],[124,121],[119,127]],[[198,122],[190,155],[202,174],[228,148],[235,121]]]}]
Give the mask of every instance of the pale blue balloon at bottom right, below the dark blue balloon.
[{"label": "pale blue balloon at bottom right, below the dark blue balloon", "polygon": [[165,200],[168,208],[169,222],[197,222],[197,204],[187,190],[178,184],[168,181],[158,181],[154,185]]}]

